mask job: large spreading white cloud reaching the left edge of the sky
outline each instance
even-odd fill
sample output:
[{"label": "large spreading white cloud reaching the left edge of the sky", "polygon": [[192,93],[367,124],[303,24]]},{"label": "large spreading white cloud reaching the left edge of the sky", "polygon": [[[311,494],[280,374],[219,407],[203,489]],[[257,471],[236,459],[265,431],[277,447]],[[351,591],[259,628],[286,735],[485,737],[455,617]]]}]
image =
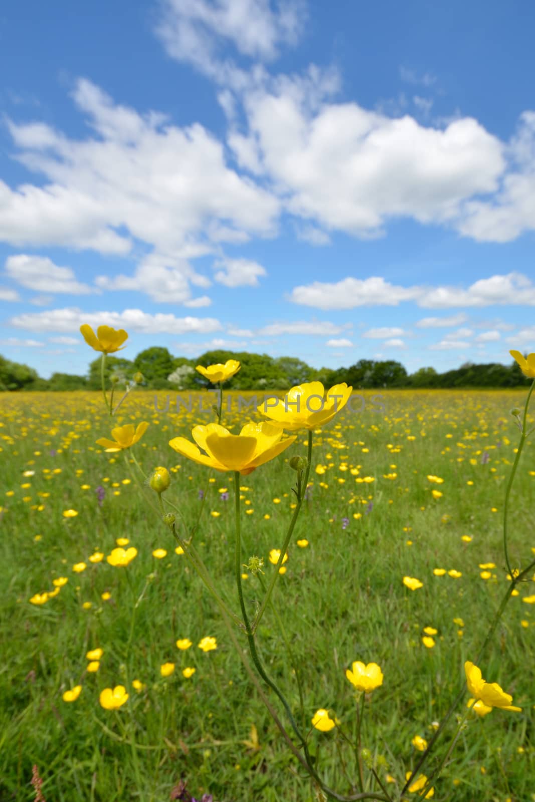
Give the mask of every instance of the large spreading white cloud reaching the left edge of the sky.
[{"label": "large spreading white cloud reaching the left edge of the sky", "polygon": [[[223,144],[200,124],[141,115],[86,79],[72,96],[95,135],[74,140],[46,124],[8,123],[16,158],[43,185],[0,182],[0,241],[125,255],[136,239],[151,252],[141,270],[160,265],[177,284],[177,272],[195,284],[189,259],[217,253],[221,241],[273,235],[280,201],[229,168]],[[172,294],[190,300],[184,286]]]}]

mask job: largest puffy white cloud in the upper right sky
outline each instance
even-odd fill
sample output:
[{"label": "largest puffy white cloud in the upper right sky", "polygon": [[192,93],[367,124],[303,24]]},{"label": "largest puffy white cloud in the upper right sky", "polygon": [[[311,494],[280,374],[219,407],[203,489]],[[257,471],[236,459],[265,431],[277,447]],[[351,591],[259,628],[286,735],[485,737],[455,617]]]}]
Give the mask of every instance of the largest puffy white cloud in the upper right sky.
[{"label": "largest puffy white cloud in the upper right sky", "polygon": [[464,202],[496,192],[506,166],[501,140],[468,117],[440,129],[357,103],[314,104],[291,80],[245,91],[244,104],[255,169],[290,213],[327,232],[378,236],[399,217],[457,225]]}]

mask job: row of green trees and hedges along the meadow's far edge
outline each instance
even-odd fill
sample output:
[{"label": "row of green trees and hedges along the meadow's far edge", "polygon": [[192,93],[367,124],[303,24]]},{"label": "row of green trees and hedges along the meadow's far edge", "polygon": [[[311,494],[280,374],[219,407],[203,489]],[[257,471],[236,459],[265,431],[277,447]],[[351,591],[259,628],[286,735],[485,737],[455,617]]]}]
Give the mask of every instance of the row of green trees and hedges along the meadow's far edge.
[{"label": "row of green trees and hedges along the meadow's far edge", "polygon": [[[143,375],[142,386],[154,390],[202,390],[209,382],[199,374],[197,365],[225,363],[238,359],[241,370],[226,385],[233,390],[285,390],[303,382],[320,381],[325,387],[347,382],[355,389],[407,387],[522,387],[528,381],[516,362],[465,363],[453,371],[438,373],[434,367],[421,367],[408,374],[395,359],[359,359],[350,367],[335,370],[310,367],[302,359],[290,356],[270,357],[267,354],[236,353],[229,350],[210,350],[198,359],[176,357],[167,348],[153,346],[142,350],[133,360],[108,356],[106,378],[122,386],[133,380],[136,373]],[[138,377],[139,378],[139,377]],[[42,379],[37,371],[0,356],[0,391],[66,391],[98,390],[100,387],[100,357],[90,364],[87,375],[54,373]]]}]

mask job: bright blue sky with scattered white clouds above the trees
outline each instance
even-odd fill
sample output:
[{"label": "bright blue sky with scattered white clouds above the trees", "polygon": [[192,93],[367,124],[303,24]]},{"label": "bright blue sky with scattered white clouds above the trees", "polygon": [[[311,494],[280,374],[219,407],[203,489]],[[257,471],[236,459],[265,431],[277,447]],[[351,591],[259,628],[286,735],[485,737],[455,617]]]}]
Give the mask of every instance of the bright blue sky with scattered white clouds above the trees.
[{"label": "bright blue sky with scattered white clouds above the trees", "polygon": [[534,350],[535,6],[0,10],[0,354]]}]

